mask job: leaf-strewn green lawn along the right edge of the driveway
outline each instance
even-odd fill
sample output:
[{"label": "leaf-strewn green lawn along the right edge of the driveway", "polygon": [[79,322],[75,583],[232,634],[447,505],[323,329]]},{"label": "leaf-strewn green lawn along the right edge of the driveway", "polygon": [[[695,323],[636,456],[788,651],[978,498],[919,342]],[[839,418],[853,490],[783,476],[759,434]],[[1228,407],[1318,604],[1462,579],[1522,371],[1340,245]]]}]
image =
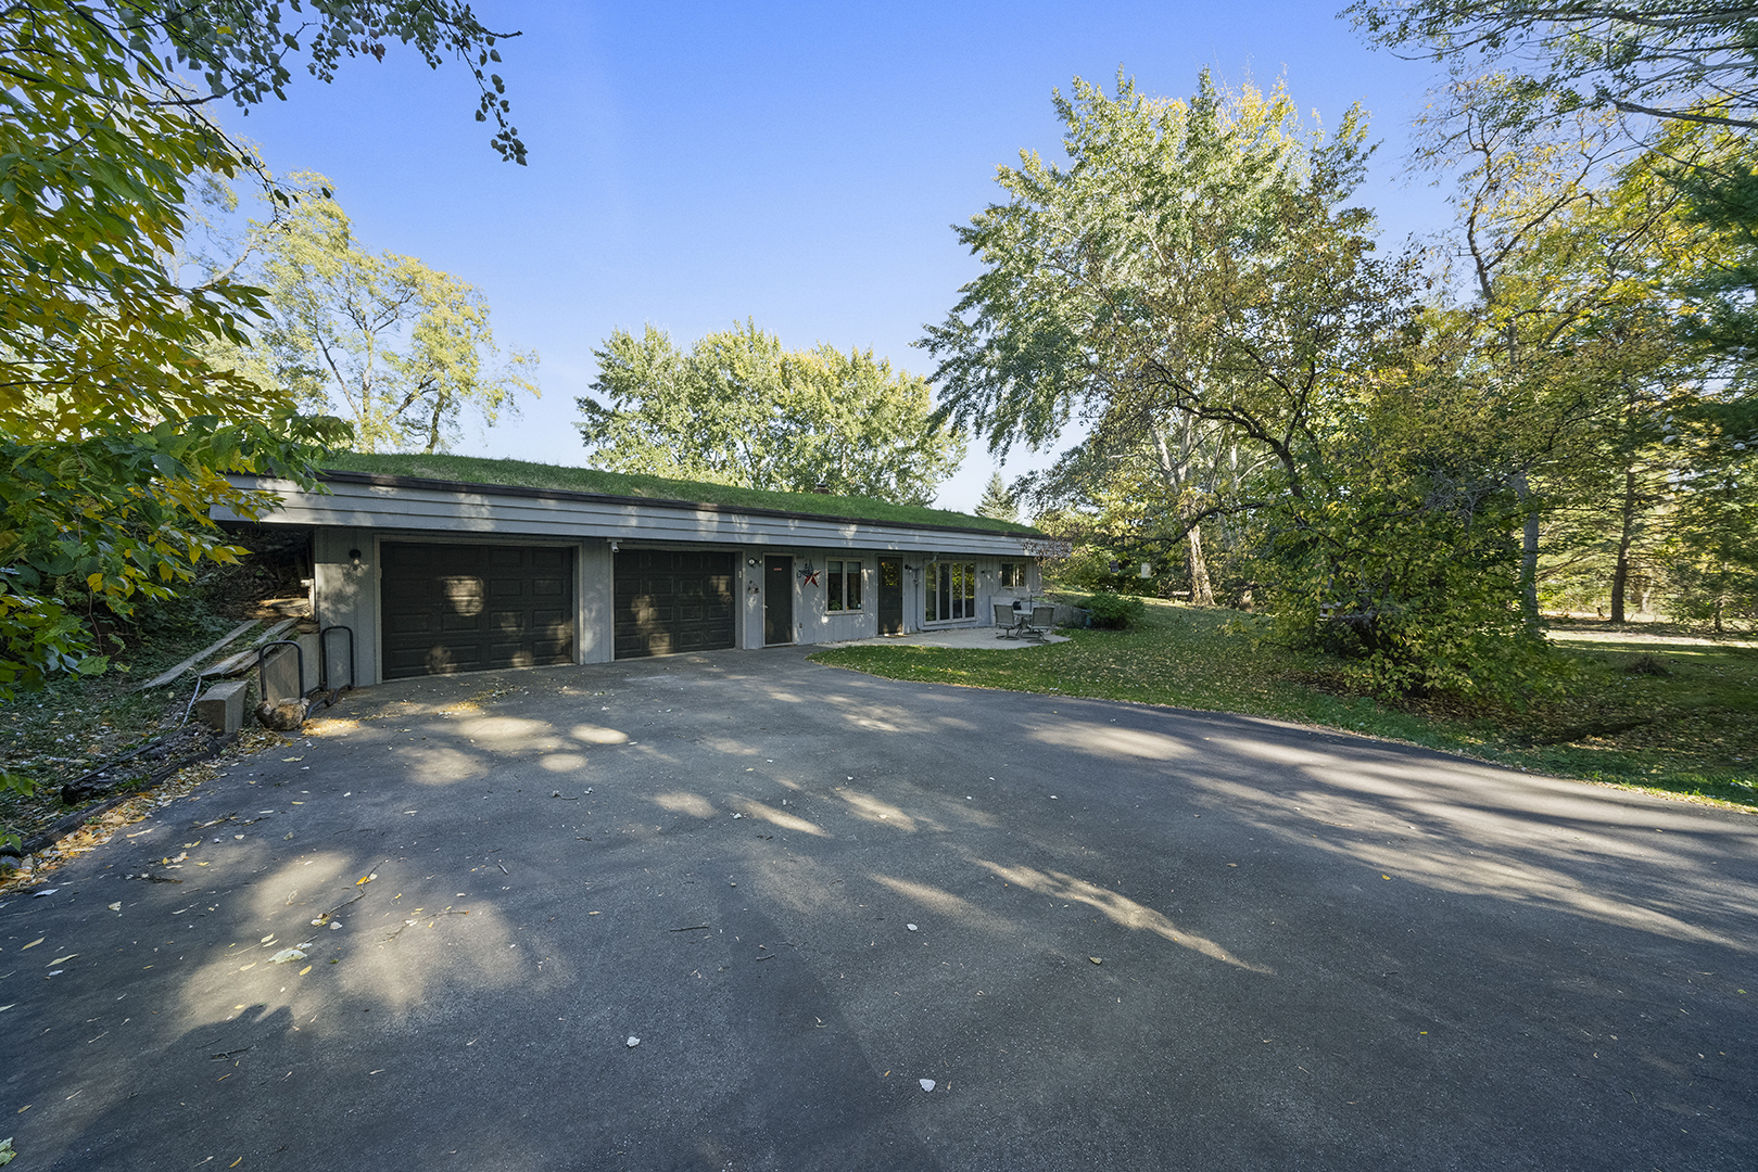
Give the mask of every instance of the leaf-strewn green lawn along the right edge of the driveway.
[{"label": "leaf-strewn green lawn along the right edge of the driveway", "polygon": [[[844,647],[817,662],[893,680],[1129,699],[1320,724],[1466,752],[1554,777],[1758,808],[1758,648],[1559,624],[1563,698],[1526,710],[1389,705],[1350,694],[1343,664],[1229,633],[1236,611],[1144,599],[1132,631],[992,652]],[[1631,669],[1635,668],[1635,669]]]}]

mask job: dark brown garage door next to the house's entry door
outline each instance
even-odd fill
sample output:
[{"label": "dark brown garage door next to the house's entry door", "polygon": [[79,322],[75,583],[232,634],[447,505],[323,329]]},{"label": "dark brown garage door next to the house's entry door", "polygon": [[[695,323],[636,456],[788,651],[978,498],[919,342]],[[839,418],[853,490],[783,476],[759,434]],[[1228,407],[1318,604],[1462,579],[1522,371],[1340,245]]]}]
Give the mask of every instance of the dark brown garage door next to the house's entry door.
[{"label": "dark brown garage door next to the house's entry door", "polygon": [[733,555],[624,550],[615,569],[615,655],[733,647]]}]

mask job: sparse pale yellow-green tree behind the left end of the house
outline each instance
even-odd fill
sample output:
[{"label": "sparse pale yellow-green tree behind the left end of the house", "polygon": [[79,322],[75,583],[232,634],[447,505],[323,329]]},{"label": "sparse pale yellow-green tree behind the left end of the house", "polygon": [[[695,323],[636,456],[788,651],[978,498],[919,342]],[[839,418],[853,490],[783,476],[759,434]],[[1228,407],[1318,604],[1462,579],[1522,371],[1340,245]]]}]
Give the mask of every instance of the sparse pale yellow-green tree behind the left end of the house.
[{"label": "sparse pale yellow-green tree behind the left end of the house", "polygon": [[480,290],[415,257],[367,253],[323,176],[285,186],[301,193],[294,207],[251,223],[246,272],[267,290],[269,318],[246,367],[260,362],[308,409],[348,418],[360,452],[440,452],[466,408],[494,425],[520,392],[538,394],[536,353],[498,365]]}]

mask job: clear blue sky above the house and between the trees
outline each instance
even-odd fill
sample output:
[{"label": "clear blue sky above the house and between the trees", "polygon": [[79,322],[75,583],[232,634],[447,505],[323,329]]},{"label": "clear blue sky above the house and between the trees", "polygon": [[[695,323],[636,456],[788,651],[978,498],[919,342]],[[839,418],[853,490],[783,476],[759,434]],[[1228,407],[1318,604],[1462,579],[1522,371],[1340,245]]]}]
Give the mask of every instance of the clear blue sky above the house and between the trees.
[{"label": "clear blue sky above the house and between the trees", "polygon": [[[911,343],[976,274],[949,225],[997,199],[997,165],[1060,153],[1051,91],[1122,67],[1148,93],[1287,81],[1334,125],[1350,102],[1382,141],[1362,200],[1384,232],[1445,227],[1403,174],[1431,65],[1369,49],[1326,4],[513,4],[499,67],[527,167],[501,163],[457,65],[410,51],[299,76],[288,102],[223,119],[276,170],[327,174],[367,248],[478,285],[503,346],[541,355],[541,401],[457,452],[582,462],[575,397],[592,348],[654,323],[687,344],[754,318],[789,346]],[[1009,478],[1050,459],[1016,450]],[[981,443],[941,490],[976,506]]]}]

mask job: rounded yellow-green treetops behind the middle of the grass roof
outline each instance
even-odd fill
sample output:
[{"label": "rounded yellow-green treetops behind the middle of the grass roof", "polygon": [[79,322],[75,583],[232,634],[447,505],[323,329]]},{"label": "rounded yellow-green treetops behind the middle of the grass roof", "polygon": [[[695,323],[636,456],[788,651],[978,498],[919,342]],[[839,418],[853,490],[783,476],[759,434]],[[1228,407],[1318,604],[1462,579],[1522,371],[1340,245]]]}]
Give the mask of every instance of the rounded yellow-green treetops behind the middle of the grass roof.
[{"label": "rounded yellow-green treetops behind the middle of the grass roof", "polygon": [[870,350],[782,350],[747,322],[689,353],[654,327],[614,332],[580,438],[594,467],[926,504],[963,459],[928,383]]}]

